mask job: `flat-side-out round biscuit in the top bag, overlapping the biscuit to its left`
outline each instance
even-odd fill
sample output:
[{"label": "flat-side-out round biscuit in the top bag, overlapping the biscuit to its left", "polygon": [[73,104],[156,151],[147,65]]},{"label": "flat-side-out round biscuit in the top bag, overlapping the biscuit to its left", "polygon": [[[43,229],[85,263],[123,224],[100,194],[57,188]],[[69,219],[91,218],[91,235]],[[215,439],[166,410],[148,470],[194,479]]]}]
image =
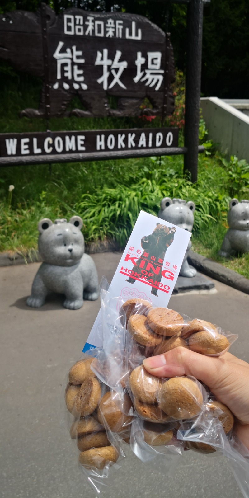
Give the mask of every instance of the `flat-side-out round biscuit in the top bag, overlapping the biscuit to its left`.
[{"label": "flat-side-out round biscuit in the top bag, overlapping the biscuit to its left", "polygon": [[153,308],[147,314],[150,328],[162,336],[175,336],[183,327],[184,320],[177,311],[168,308]]}]

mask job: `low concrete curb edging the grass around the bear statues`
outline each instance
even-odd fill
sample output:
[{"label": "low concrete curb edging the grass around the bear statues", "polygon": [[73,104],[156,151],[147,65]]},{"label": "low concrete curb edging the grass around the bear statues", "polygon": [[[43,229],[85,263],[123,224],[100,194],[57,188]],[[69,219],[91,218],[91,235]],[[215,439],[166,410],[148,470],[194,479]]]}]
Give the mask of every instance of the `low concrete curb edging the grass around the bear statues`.
[{"label": "low concrete curb edging the grass around the bear statues", "polygon": [[[94,254],[96,252],[120,252],[121,250],[122,249],[119,244],[112,241],[99,242],[97,244],[86,244],[86,252],[88,254]],[[226,285],[230,285],[230,287],[233,287],[234,289],[241,290],[242,292],[249,294],[249,279],[243,277],[236,271],[230,270],[222,264],[216,263],[205,256],[201,256],[192,250],[189,251],[188,261],[201,273],[204,273],[219,282],[225,283]],[[0,267],[34,262],[41,262],[39,253],[36,250],[32,251],[30,257],[28,255],[23,257],[22,254],[16,252],[0,253]]]}]

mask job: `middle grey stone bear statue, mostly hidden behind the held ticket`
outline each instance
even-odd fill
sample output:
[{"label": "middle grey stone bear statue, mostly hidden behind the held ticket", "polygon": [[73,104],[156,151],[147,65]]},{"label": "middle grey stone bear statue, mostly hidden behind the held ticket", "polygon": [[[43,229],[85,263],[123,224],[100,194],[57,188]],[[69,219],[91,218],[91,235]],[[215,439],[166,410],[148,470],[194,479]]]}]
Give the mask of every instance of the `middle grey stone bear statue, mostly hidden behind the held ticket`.
[{"label": "middle grey stone bear statue, mostly hidden behind the held ticket", "polygon": [[[183,228],[191,232],[194,225],[194,210],[195,204],[192,201],[186,202],[183,199],[170,199],[170,197],[164,197],[161,200],[160,211],[158,213],[158,218],[173,223],[177,227]],[[179,275],[182,277],[194,277],[197,273],[195,268],[191,268],[188,264],[187,257],[188,251],[192,244],[189,241],[187,250],[185,252],[181,269]]]}]

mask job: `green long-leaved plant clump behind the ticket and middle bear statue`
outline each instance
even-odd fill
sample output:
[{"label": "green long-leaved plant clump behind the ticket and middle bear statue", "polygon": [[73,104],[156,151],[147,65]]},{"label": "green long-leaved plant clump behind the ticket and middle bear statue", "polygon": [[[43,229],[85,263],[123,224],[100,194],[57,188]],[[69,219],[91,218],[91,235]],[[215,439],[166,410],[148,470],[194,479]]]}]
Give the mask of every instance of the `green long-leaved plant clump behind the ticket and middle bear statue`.
[{"label": "green long-leaved plant clump behind the ticket and middle bear statue", "polygon": [[[157,159],[157,158],[156,158]],[[152,158],[155,164],[155,158]],[[210,222],[225,220],[228,196],[219,194],[200,180],[193,184],[175,176],[175,170],[143,169],[146,178],[130,186],[104,187],[93,194],[83,194],[74,211],[84,220],[86,241],[111,238],[124,246],[140,210],[157,216],[163,197],[191,199],[196,205],[195,230],[208,227]]]}]

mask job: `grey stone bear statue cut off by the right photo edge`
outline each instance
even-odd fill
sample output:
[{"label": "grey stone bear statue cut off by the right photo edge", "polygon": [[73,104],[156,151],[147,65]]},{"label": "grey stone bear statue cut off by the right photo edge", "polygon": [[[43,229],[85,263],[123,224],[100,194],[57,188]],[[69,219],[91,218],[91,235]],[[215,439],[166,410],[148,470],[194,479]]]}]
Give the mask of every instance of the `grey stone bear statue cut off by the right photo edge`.
[{"label": "grey stone bear statue cut off by the right photo edge", "polygon": [[222,257],[234,256],[238,252],[249,252],[249,200],[232,199],[229,203],[228,226],[222,247]]}]

